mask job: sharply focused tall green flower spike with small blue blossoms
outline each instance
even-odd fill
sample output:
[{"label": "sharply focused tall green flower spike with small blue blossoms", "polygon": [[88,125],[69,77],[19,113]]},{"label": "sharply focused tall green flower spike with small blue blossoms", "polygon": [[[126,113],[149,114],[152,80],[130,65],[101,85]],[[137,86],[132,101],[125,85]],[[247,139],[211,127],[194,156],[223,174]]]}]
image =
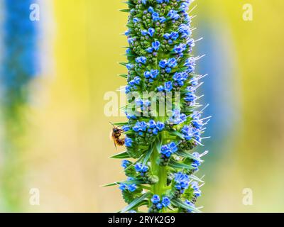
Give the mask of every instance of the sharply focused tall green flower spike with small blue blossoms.
[{"label": "sharply focused tall green flower spike with small blue blossoms", "polygon": [[[125,64],[129,104],[126,123],[117,123],[125,137],[122,158],[126,180],[119,185],[129,206],[121,212],[198,212],[202,180],[194,174],[202,165],[202,154],[192,152],[202,145],[204,125],[195,92],[200,75],[195,74],[197,58],[192,55],[191,0],[129,0],[126,31],[129,48]],[[158,114],[145,115],[163,104],[162,94],[179,93],[180,102]],[[130,95],[135,93],[136,95]],[[168,100],[167,100],[168,101]],[[155,112],[155,111],[154,111]],[[151,112],[152,113],[152,112]],[[205,153],[204,153],[205,154]],[[130,160],[129,160],[130,159]],[[135,161],[133,161],[135,160]]]}]

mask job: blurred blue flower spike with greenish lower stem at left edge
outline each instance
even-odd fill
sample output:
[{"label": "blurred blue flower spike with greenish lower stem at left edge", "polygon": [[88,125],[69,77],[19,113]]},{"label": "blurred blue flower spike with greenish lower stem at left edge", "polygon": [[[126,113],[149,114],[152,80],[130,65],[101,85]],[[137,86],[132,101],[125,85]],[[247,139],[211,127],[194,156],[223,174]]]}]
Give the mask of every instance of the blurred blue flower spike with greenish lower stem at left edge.
[{"label": "blurred blue flower spike with greenish lower stem at left edge", "polygon": [[[1,163],[1,204],[7,211],[19,211],[22,204],[20,181],[24,179],[24,167],[13,162],[23,152],[19,141],[25,135],[24,106],[28,100],[28,84],[37,72],[38,21],[31,21],[35,0],[1,1],[0,38],[0,104],[4,143],[4,162]],[[21,148],[20,148],[21,147]],[[12,162],[11,162],[12,160]],[[20,165],[19,165],[20,164]]]}]

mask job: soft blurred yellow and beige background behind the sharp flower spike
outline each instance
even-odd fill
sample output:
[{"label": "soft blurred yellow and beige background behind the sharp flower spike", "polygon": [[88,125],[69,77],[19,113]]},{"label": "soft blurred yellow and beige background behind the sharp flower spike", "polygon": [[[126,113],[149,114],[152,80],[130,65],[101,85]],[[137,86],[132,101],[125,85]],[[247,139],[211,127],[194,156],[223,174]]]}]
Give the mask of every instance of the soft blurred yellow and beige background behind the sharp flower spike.
[{"label": "soft blurred yellow and beige background behind the sharp flower spike", "polygon": [[[20,1],[20,0],[18,0]],[[124,179],[109,140],[104,94],[125,84],[117,74],[124,61],[127,13],[120,1],[38,1],[40,38],[37,59],[42,69],[29,84],[29,101],[21,106],[23,133],[6,131],[1,121],[1,211],[110,212],[124,202],[118,188],[102,184]],[[205,175],[204,212],[284,211],[284,65],[282,0],[198,0],[192,11],[197,27],[196,55],[206,54],[199,72],[202,102],[212,115],[210,150],[198,176]],[[253,20],[243,18],[244,4]],[[1,52],[0,52],[1,55]],[[1,108],[3,109],[3,108]],[[3,111],[1,111],[3,115]],[[11,131],[11,130],[10,130]],[[16,144],[4,158],[6,144]],[[123,149],[123,148],[121,148]],[[12,183],[11,183],[12,182]],[[21,182],[21,183],[20,183]],[[40,205],[30,204],[39,189]],[[244,189],[253,204],[243,204]],[[4,191],[4,190],[2,190]],[[11,192],[9,194],[9,192]],[[9,204],[6,196],[11,197]]]}]

